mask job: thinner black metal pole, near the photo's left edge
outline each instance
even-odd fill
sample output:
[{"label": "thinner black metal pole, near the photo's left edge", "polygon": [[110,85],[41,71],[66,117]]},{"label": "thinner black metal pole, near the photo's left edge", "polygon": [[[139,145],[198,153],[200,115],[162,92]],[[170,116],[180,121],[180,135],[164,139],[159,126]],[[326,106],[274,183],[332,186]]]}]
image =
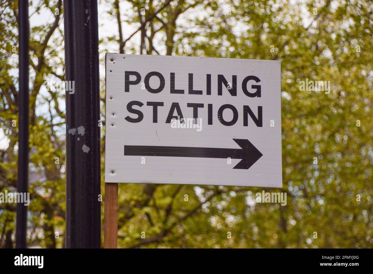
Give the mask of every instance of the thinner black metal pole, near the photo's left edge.
[{"label": "thinner black metal pole, near the photo's left edge", "polygon": [[[17,191],[28,192],[28,1],[18,1],[19,94]],[[17,204],[16,248],[26,248],[27,206]]]}]

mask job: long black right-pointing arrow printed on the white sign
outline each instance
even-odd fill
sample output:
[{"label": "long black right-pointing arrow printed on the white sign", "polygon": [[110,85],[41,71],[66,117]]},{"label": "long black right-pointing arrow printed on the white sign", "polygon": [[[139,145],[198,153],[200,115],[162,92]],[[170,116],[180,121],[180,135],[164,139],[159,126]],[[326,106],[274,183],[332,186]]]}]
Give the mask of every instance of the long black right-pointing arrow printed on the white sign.
[{"label": "long black right-pointing arrow printed on the white sign", "polygon": [[124,155],[242,159],[233,169],[249,169],[263,154],[247,139],[233,139],[241,148],[194,148],[125,145]]}]

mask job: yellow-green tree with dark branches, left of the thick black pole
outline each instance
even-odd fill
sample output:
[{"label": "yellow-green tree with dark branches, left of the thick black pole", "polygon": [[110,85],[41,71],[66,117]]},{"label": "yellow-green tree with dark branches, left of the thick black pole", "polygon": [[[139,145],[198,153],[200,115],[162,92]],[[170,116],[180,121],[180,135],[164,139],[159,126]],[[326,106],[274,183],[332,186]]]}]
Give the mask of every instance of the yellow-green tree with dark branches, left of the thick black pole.
[{"label": "yellow-green tree with dark branches, left of the thick black pole", "polygon": [[[56,226],[62,227],[65,218],[65,180],[64,153],[65,146],[62,134],[64,132],[65,113],[60,109],[63,102],[63,92],[48,91],[44,81],[56,77],[63,79],[63,74],[57,70],[63,67],[61,36],[54,35],[59,29],[62,13],[62,0],[48,3],[40,1],[34,7],[34,12],[41,9],[49,11],[53,18],[51,23],[34,26],[30,29],[30,129],[29,172],[41,174],[42,180],[32,182],[30,178],[29,192],[32,202],[29,206],[28,219],[32,226],[28,227],[32,237],[28,245],[37,243],[47,248],[56,247]],[[56,12],[56,9],[59,12]],[[4,131],[9,146],[0,154],[0,189],[9,192],[16,188],[17,180],[17,138],[18,125],[18,3],[17,1],[2,1],[0,6],[0,35],[1,35],[1,129]],[[32,15],[32,14],[31,14]],[[52,41],[54,42],[52,44]],[[48,82],[48,81],[47,81]],[[43,113],[37,114],[38,108],[44,108]],[[55,158],[59,164],[55,164]],[[0,204],[1,237],[5,247],[12,247],[13,240],[9,237],[15,230],[15,204]]]}]

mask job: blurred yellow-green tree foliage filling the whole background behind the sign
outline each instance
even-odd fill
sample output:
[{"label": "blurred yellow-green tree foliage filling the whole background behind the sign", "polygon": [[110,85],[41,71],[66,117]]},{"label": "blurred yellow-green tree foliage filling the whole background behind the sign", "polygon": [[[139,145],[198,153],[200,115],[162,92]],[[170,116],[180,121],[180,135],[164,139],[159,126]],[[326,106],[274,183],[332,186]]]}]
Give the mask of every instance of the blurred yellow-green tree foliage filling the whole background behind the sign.
[{"label": "blurred yellow-green tree foliage filling the whole background behind the sign", "polygon": [[[286,192],[287,205],[257,204],[255,193],[263,188],[120,184],[119,247],[373,246],[372,1],[99,4],[107,15],[99,22],[118,29],[100,40],[101,66],[106,51],[282,61],[283,188],[264,190]],[[64,246],[65,226],[65,93],[43,87],[46,80],[64,79],[59,5],[32,1],[30,8],[30,13],[48,12],[50,20],[33,26],[30,35],[30,173],[38,179],[29,185],[28,245],[48,248]],[[9,140],[0,150],[1,192],[14,191],[17,180],[16,14],[16,1],[0,0],[0,125]],[[128,28],[135,34],[129,36]],[[330,81],[330,94],[300,91],[306,78]],[[104,87],[101,78],[103,124]],[[104,182],[104,128],[101,136]],[[103,204],[101,211],[103,220]],[[0,204],[0,246],[14,247],[14,231],[15,205]]]}]

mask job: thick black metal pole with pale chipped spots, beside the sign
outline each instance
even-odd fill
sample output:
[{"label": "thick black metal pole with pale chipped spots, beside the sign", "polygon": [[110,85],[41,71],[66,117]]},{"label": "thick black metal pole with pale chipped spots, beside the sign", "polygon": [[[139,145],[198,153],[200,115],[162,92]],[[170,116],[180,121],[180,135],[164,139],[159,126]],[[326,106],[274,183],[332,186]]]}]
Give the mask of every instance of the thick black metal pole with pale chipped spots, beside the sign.
[{"label": "thick black metal pole with pale chipped spots, beside the sign", "polygon": [[64,0],[63,9],[65,80],[73,81],[66,84],[66,248],[100,248],[97,0]]}]

